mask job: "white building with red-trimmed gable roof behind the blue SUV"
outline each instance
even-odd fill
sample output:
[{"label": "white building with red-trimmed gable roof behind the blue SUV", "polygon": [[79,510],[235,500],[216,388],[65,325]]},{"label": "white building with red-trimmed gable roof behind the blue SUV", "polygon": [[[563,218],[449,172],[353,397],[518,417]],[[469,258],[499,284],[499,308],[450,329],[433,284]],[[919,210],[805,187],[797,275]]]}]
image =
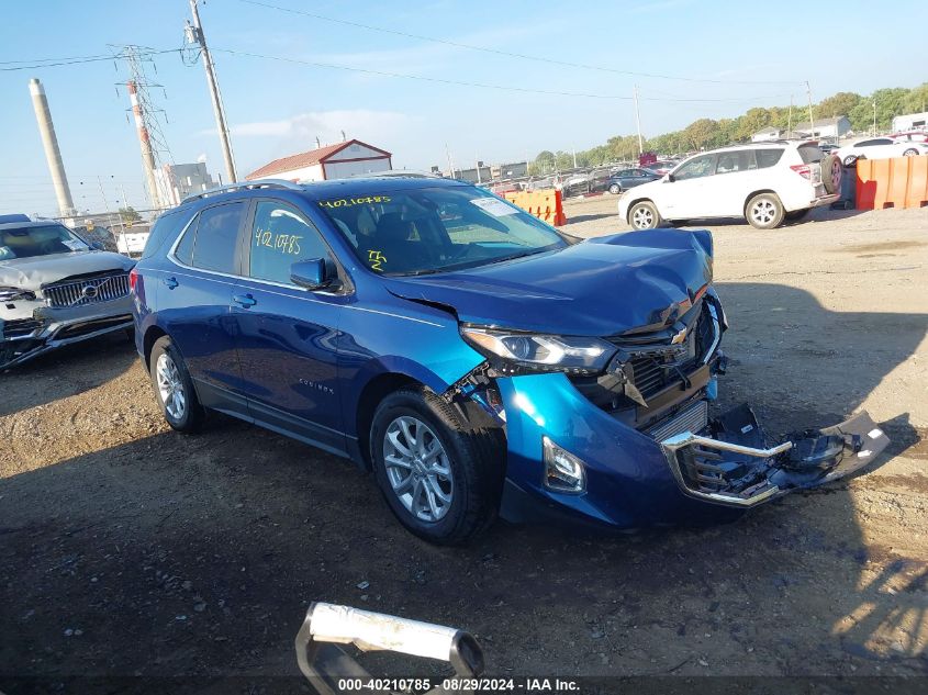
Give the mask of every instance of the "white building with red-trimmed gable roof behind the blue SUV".
[{"label": "white building with red-trimmed gable roof behind the blue SUV", "polygon": [[327,181],[358,173],[390,171],[393,168],[389,152],[357,139],[349,139],[318,149],[275,159],[245,177],[255,179],[287,179],[290,181]]}]

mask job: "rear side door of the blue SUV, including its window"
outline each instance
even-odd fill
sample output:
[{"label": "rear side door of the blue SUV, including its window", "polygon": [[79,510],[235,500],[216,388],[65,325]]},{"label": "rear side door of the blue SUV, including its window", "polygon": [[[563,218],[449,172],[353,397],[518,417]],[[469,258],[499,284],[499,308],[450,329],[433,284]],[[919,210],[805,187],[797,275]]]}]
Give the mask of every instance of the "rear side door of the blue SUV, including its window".
[{"label": "rear side door of the blue SUV, including its window", "polygon": [[191,221],[168,254],[158,288],[161,325],[183,356],[203,405],[246,413],[232,294],[247,203],[219,203]]}]

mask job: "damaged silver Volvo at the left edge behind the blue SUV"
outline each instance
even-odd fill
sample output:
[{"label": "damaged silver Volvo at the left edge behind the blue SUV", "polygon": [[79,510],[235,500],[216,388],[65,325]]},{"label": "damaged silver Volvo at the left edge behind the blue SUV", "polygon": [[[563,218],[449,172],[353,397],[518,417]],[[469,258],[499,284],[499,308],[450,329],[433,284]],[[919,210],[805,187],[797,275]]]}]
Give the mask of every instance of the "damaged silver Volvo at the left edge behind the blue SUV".
[{"label": "damaged silver Volvo at the left edge behind the blue SUV", "polygon": [[134,266],[57,222],[0,224],[0,370],[131,329]]}]

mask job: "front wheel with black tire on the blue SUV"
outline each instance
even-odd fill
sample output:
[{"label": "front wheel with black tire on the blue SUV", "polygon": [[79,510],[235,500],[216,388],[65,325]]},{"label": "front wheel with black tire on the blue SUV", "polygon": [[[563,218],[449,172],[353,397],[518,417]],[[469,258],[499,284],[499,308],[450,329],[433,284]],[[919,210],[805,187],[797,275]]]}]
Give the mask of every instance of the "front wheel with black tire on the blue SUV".
[{"label": "front wheel with black tire on the blue SUV", "polygon": [[416,536],[460,545],[496,518],[505,473],[497,429],[476,429],[425,388],[378,406],[370,428],[374,475],[391,512]]}]

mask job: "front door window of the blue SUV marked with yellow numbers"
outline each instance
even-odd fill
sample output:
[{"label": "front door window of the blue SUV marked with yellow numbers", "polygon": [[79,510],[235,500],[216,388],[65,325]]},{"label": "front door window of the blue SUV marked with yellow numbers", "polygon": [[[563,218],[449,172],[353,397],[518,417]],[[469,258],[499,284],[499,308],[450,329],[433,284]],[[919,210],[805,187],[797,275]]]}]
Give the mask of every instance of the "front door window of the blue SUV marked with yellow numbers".
[{"label": "front door window of the blue SUV marked with yellow numbers", "polygon": [[318,231],[283,203],[260,201],[255,208],[248,274],[257,280],[290,283],[290,266],[327,258]]}]

